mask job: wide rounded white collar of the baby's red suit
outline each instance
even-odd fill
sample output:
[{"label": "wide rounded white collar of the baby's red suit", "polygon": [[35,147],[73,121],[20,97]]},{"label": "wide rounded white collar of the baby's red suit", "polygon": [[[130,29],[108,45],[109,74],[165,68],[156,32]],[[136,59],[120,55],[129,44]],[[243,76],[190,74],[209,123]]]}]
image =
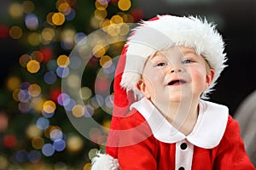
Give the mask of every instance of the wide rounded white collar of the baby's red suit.
[{"label": "wide rounded white collar of the baby's red suit", "polygon": [[165,143],[177,143],[187,139],[198,147],[211,149],[217,146],[224,135],[227,126],[229,109],[209,101],[200,100],[199,115],[195,127],[188,136],[180,133],[170,122],[160,114],[154,105],[143,98],[131,105],[141,113],[148,122],[154,138]]}]

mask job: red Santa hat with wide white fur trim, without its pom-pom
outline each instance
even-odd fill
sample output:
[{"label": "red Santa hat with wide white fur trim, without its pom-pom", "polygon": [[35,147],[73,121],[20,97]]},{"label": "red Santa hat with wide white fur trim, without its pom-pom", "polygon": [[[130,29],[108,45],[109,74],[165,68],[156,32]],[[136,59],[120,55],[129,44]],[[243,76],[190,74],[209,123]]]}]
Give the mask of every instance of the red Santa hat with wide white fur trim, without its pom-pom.
[{"label": "red Santa hat with wide white fur trim, without its pom-pom", "polygon": [[137,82],[146,60],[156,51],[174,46],[194,48],[215,71],[212,83],[202,94],[202,99],[207,99],[207,94],[226,66],[223,38],[207,20],[193,16],[161,15],[139,23],[125,44],[115,73],[113,117],[106,147],[107,154],[113,158],[118,156],[120,119],[129,111],[130,105],[141,97],[137,91]]}]

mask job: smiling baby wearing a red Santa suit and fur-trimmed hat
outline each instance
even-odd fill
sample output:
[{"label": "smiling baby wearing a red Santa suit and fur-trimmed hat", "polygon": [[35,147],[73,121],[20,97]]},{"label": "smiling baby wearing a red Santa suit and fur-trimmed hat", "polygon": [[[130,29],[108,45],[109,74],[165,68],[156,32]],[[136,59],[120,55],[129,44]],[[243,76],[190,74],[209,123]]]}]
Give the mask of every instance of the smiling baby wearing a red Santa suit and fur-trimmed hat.
[{"label": "smiling baby wearing a red Santa suit and fur-trimmed hat", "polygon": [[204,100],[225,61],[207,20],[143,21],[119,59],[107,155],[91,169],[255,169],[228,108]]}]

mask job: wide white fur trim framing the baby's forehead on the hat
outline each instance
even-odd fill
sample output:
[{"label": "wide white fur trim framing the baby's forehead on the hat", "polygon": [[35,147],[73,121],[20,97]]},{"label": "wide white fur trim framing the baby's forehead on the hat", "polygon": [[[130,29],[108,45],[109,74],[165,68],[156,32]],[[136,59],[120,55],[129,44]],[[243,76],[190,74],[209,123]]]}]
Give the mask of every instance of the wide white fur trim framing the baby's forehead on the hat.
[{"label": "wide white fur trim framing the baby's forehead on the hat", "polygon": [[197,54],[205,57],[215,71],[214,77],[202,99],[212,91],[220,73],[224,70],[226,54],[224,41],[212,23],[200,18],[177,17],[172,15],[158,16],[158,20],[142,21],[126,42],[125,70],[120,82],[126,90],[137,91],[137,82],[141,78],[143,66],[149,56],[156,51],[174,46],[195,48]]}]

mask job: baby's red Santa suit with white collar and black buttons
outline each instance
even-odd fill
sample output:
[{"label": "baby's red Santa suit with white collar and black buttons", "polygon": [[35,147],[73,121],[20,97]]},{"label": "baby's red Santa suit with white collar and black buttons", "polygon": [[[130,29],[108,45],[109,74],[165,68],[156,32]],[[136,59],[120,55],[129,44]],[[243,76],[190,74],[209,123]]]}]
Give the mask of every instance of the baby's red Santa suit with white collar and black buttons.
[{"label": "baby's red Santa suit with white collar and black buttons", "polygon": [[188,136],[167,122],[148,99],[131,105],[119,130],[122,170],[255,169],[244,149],[238,123],[224,105],[200,101],[195,127]]}]

